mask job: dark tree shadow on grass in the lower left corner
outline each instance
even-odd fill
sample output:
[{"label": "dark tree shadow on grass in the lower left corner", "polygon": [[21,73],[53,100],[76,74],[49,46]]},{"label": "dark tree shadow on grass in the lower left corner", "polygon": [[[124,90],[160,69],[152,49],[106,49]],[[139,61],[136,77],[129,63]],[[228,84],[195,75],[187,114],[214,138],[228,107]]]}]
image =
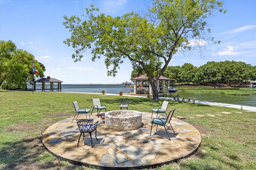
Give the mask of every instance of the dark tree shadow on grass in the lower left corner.
[{"label": "dark tree shadow on grass in the lower left corner", "polygon": [[2,170],[74,169],[78,167],[73,164],[62,164],[60,160],[48,154],[42,145],[41,135],[2,143],[0,155]]}]

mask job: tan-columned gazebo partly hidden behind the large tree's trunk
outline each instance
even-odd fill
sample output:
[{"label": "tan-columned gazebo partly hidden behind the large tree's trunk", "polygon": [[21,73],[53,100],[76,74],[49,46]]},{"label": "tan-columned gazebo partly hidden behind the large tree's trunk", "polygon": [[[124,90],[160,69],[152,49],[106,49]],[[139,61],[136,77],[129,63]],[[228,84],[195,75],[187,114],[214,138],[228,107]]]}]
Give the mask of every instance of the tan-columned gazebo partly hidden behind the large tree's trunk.
[{"label": "tan-columned gazebo partly hidden behind the large tree's trunk", "polygon": [[[134,94],[144,94],[143,86],[144,83],[146,83],[146,86],[149,86],[149,80],[148,76],[146,74],[142,76],[138,76],[132,79],[134,81]],[[139,83],[139,87],[137,87],[137,82]],[[165,92],[165,82],[167,82],[167,87],[170,86],[170,79],[166,78],[164,76],[160,76],[160,78],[157,80],[157,87],[162,87],[162,92]],[[161,86],[160,86],[161,83]],[[152,88],[149,86],[149,94],[152,95]]]}]

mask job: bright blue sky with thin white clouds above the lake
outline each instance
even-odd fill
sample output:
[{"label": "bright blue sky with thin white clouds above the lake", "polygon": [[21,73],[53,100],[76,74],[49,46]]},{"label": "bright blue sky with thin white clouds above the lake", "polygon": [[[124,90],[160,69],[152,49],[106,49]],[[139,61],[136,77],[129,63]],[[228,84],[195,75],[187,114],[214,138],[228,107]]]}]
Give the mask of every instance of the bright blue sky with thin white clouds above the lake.
[{"label": "bright blue sky with thin white clouds above the lake", "polygon": [[[118,84],[130,81],[129,60],[120,66],[116,77],[107,76],[104,59],[91,61],[90,51],[82,61],[74,63],[73,49],[63,43],[70,37],[62,25],[63,16],[80,18],[85,8],[94,4],[100,13],[122,16],[143,12],[147,0],[0,0],[0,40],[11,40],[18,49],[32,53],[46,67],[45,76],[62,80],[63,84]],[[197,51],[176,54],[170,66],[190,63],[201,66],[208,61],[242,61],[256,65],[256,0],[226,0],[226,14],[209,18],[212,35],[220,44],[207,44],[202,59]]]}]

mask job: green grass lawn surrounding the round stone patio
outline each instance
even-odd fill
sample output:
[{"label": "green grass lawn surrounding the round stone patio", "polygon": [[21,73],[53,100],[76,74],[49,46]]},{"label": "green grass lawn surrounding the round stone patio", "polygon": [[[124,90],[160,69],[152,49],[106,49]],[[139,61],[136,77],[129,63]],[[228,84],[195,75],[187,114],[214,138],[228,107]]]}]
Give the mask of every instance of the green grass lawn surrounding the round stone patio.
[{"label": "green grass lawn surrounding the round stone patio", "polygon": [[[108,111],[119,110],[126,96],[57,92],[0,91],[0,169],[93,169],[58,160],[44,149],[42,133],[53,123],[75,114],[73,101],[92,109],[92,98],[100,98]],[[151,112],[163,100],[129,97],[129,109]],[[202,143],[197,152],[159,170],[255,170],[256,113],[229,107],[170,101],[174,116],[190,116],[184,121],[198,129]],[[235,113],[242,112],[240,113]],[[230,115],[222,112],[232,112]],[[221,114],[216,117],[196,115]]]}]

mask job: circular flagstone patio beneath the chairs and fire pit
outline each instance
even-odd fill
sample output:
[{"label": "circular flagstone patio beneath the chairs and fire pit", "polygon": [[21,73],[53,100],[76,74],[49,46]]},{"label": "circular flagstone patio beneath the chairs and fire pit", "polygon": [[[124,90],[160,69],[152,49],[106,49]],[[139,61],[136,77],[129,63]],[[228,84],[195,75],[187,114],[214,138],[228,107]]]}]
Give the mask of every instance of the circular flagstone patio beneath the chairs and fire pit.
[{"label": "circular flagstone patio beneath the chairs and fire pit", "polygon": [[[175,112],[174,112],[175,114]],[[95,115],[95,116],[94,116]],[[91,116],[94,122],[99,121],[97,139],[95,132],[90,141],[82,137],[77,147],[80,131],[73,117],[54,123],[42,135],[42,143],[48,152],[61,160],[72,164],[93,166],[98,169],[142,169],[156,168],[164,164],[177,162],[194,154],[201,143],[199,131],[180,119],[172,117],[172,128],[168,125],[171,140],[167,139],[163,127],[153,125],[150,136],[152,113],[142,112],[142,126],[132,131],[116,131],[108,129],[97,113]],[[79,115],[79,119],[86,118]],[[90,138],[88,133],[86,137]]]}]

